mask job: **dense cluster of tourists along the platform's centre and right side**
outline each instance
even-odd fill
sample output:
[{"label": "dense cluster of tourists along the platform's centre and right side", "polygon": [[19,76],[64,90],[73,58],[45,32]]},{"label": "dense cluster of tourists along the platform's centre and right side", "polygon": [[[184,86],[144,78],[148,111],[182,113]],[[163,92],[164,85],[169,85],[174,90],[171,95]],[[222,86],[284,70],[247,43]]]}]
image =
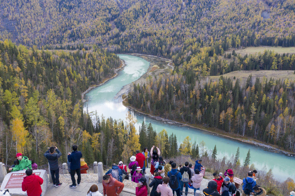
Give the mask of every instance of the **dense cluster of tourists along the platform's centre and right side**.
[{"label": "dense cluster of tourists along the platform's centre and right side", "polygon": [[[145,174],[149,167],[151,182],[148,184]],[[189,188],[193,189],[194,193],[196,190],[200,190],[205,169],[202,160],[196,160],[194,166],[188,161],[183,165],[177,165],[173,160],[166,163],[160,156],[160,149],[155,146],[150,152],[147,148],[143,152],[137,150],[135,155],[130,157],[128,168],[130,172],[127,172],[127,165],[124,165],[122,161],[118,165],[113,164],[112,169],[106,172],[103,177],[103,195],[118,195],[124,187],[123,180],[131,177],[131,180],[137,183],[135,190],[137,196],[147,196],[148,194],[150,196],[172,196],[175,194],[187,196]],[[228,168],[224,173],[214,172],[214,178],[209,181],[203,194],[206,196],[266,196],[266,190],[256,185],[256,174],[257,170],[248,172],[248,177],[243,179],[242,192],[240,192],[239,185],[233,182],[234,172],[232,169]],[[115,190],[114,185],[117,187]],[[148,187],[151,188],[150,192],[148,192]],[[183,189],[185,190],[183,191]]]}]

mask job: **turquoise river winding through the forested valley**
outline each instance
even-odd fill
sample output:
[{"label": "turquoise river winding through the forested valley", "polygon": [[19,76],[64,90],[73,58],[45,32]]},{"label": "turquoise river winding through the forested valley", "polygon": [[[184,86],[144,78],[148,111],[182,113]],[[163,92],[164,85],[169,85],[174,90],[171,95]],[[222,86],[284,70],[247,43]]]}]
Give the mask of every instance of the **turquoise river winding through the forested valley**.
[{"label": "turquoise river winding through the forested valley", "polygon": [[[129,83],[139,79],[149,67],[149,62],[131,55],[119,54],[120,59],[125,61],[126,66],[118,73],[118,76],[109,80],[105,84],[92,89],[85,95],[87,101],[84,103],[84,109],[88,106],[89,112],[97,111],[99,116],[103,114],[105,117],[113,119],[124,119],[128,108],[122,104],[122,98],[114,99],[117,92]],[[240,147],[240,159],[243,163],[248,150],[251,153],[251,164],[253,163],[256,169],[269,170],[272,169],[274,176],[278,180],[286,180],[288,177],[295,178],[295,158],[286,155],[268,152],[262,147],[250,145],[236,140],[218,136],[200,129],[191,127],[180,127],[179,125],[167,124],[163,121],[155,120],[142,114],[135,113],[137,118],[136,127],[138,128],[142,121],[152,123],[153,128],[160,132],[166,129],[168,135],[176,134],[178,142],[182,142],[186,136],[191,138],[192,143],[197,143],[204,140],[207,150],[211,151],[216,144],[217,157],[235,155],[237,147]],[[201,152],[201,150],[200,150]],[[203,165],[206,166],[207,163]],[[224,171],[219,171],[224,172]]]}]

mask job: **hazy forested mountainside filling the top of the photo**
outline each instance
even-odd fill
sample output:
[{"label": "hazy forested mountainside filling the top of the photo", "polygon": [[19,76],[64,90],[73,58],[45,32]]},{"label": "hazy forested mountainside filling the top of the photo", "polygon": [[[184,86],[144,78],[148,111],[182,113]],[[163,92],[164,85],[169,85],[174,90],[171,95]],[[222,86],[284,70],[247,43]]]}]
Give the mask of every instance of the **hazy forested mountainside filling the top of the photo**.
[{"label": "hazy forested mountainside filling the top of the photo", "polygon": [[27,46],[97,44],[181,60],[203,46],[295,44],[292,0],[3,1],[0,21],[0,39]]}]

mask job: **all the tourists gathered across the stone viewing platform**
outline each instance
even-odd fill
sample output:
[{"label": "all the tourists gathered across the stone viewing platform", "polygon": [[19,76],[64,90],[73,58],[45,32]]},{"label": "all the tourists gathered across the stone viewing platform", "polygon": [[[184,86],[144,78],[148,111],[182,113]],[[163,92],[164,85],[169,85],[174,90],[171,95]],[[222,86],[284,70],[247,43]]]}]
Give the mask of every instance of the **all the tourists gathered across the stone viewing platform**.
[{"label": "all the tourists gathered across the stone viewing platform", "polygon": [[[58,187],[62,184],[59,182],[58,166],[58,158],[61,156],[61,152],[57,147],[50,147],[44,153],[44,156],[49,163],[53,186]],[[33,170],[37,169],[37,164],[33,166],[34,161],[21,153],[16,155],[16,159],[14,167],[9,168],[9,170],[26,170],[26,177],[24,177],[22,182],[22,190],[27,191],[29,196],[41,196],[43,180],[33,173]],[[72,180],[72,185],[69,187],[75,188],[81,183],[81,173],[86,173],[86,170],[89,168],[82,158],[82,153],[78,151],[77,145],[73,145],[72,152],[68,153],[68,163]],[[148,184],[145,174],[149,167],[151,175],[148,175],[150,178],[148,180],[151,181]],[[137,183],[135,190],[137,196],[172,196],[175,193],[177,196],[182,196],[183,194],[187,196],[189,188],[193,189],[194,193],[200,190],[205,170],[201,159],[195,161],[194,167],[188,161],[184,162],[183,165],[177,165],[173,160],[167,163],[160,156],[160,149],[155,146],[152,147],[150,152],[147,148],[143,152],[136,150],[135,155],[130,157],[128,169],[130,172],[127,170],[127,165],[124,165],[122,161],[112,165],[112,168],[106,172],[102,179],[104,196],[118,196],[124,188],[123,180],[129,180],[129,178]],[[266,196],[266,190],[256,184],[257,173],[257,170],[248,172],[247,177],[243,179],[242,192],[240,192],[238,190],[240,185],[234,182],[234,172],[232,169],[228,168],[224,173],[214,172],[214,178],[209,181],[207,188],[203,190],[203,194],[205,196]],[[78,176],[77,183],[75,174]],[[185,190],[183,191],[184,188]],[[87,195],[102,196],[98,191],[97,185],[92,185]],[[295,196],[295,193],[290,192],[290,195]]]}]

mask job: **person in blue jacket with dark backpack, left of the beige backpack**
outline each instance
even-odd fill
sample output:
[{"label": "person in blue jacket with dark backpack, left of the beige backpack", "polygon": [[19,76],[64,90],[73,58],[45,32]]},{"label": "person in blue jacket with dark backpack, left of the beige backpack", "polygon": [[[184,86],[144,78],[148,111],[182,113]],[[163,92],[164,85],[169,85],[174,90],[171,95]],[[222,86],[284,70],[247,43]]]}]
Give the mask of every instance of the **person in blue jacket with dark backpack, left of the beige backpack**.
[{"label": "person in blue jacket with dark backpack, left of the beige backpack", "polygon": [[168,177],[170,178],[170,181],[169,181],[169,186],[170,188],[173,190],[173,195],[174,195],[174,192],[176,192],[176,195],[177,196],[180,196],[180,181],[181,181],[181,173],[177,171],[176,169],[176,163],[173,162],[171,164],[171,171],[168,172]]}]

